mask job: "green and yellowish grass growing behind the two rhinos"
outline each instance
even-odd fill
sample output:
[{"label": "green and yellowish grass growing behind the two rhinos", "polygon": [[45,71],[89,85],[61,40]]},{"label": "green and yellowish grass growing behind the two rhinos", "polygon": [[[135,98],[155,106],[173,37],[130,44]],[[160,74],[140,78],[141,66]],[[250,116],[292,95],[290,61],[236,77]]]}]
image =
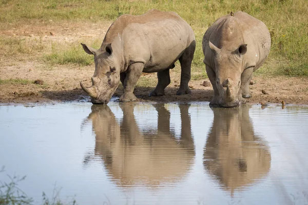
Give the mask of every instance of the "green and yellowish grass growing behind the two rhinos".
[{"label": "green and yellowish grass growing behind the two rhinos", "polygon": [[[122,14],[139,15],[152,8],[175,11],[191,25],[196,35],[197,48],[192,69],[204,70],[202,63],[202,37],[215,20],[230,11],[245,11],[262,20],[271,31],[271,62],[284,59],[284,64],[271,64],[266,68],[271,75],[308,76],[308,4],[306,0],[2,0],[0,22],[14,23],[53,22],[62,20],[99,22],[115,20]],[[1,24],[0,24],[1,27]],[[53,63],[89,65],[90,60],[81,47],[72,45],[67,52],[47,57]],[[83,57],[87,56],[87,57]],[[261,71],[262,73],[263,71]]]}]

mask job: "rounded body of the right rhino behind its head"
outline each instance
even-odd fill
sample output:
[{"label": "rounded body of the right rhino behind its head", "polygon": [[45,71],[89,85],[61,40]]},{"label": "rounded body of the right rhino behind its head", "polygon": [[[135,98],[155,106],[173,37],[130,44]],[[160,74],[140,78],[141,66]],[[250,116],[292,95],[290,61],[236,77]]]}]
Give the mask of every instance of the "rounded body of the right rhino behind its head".
[{"label": "rounded body of the right rhino behind its head", "polygon": [[[229,31],[229,27],[233,27],[233,32]],[[254,70],[264,63],[271,48],[271,36],[265,24],[241,11],[234,13],[234,16],[228,14],[218,18],[203,36],[204,63],[214,67],[214,53],[209,48],[209,41],[218,48],[226,47],[229,50],[247,44],[247,65],[256,65]]]}]

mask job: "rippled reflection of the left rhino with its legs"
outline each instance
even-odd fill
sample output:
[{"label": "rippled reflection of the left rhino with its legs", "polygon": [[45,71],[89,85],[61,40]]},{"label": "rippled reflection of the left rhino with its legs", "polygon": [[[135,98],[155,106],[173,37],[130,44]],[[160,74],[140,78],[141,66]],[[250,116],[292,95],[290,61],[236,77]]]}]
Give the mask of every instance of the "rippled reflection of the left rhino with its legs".
[{"label": "rippled reflection of the left rhino with its legs", "polygon": [[170,112],[164,105],[154,105],[158,112],[158,127],[142,132],[133,114],[134,104],[120,104],[120,107],[123,111],[121,126],[108,106],[93,105],[88,117],[95,133],[94,154],[103,159],[112,180],[120,186],[156,187],[183,178],[195,156],[189,106],[179,105],[180,138],[170,130]]}]

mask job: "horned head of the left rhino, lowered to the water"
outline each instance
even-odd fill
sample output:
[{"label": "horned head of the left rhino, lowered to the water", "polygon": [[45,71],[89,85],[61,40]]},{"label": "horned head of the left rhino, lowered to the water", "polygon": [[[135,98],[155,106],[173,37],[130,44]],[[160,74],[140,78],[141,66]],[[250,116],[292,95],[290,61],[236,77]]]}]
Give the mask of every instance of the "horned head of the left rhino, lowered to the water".
[{"label": "horned head of the left rhino, lowered to the water", "polygon": [[120,82],[120,65],[112,55],[111,44],[98,50],[81,45],[86,53],[94,55],[95,72],[91,87],[85,87],[82,82],[80,85],[89,94],[93,104],[107,104]]}]

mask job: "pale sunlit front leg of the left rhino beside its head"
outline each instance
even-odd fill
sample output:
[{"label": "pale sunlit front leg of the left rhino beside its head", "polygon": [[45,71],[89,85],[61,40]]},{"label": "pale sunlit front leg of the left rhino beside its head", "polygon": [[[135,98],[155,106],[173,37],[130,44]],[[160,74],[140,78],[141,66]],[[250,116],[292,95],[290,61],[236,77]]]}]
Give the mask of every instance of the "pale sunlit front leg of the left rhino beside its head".
[{"label": "pale sunlit front leg of the left rhino beside its head", "polygon": [[137,101],[137,97],[133,94],[134,87],[137,84],[139,77],[143,70],[143,63],[131,64],[127,71],[124,79],[124,93],[120,97],[120,102]]}]

